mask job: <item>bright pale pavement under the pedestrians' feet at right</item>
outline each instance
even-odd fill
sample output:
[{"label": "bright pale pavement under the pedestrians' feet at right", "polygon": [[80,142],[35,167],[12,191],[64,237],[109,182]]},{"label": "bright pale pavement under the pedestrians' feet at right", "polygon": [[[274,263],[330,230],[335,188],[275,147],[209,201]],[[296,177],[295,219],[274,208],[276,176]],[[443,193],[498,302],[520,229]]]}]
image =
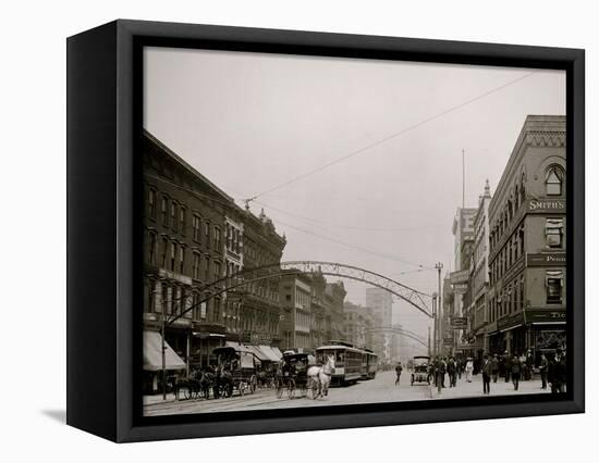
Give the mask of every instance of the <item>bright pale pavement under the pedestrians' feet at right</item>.
[{"label": "bright pale pavement under the pedestrians' feet at right", "polygon": [[[491,392],[489,396],[513,396],[525,393],[551,393],[548,386],[547,389],[541,389],[541,381],[534,378],[530,381],[519,381],[518,390],[514,390],[514,385],[505,383],[504,378],[498,378],[497,383],[491,379]],[[482,375],[473,376],[473,381],[466,381],[466,376],[462,375],[462,379],[457,379],[455,387],[449,387],[449,375],[445,375],[445,387],[441,389],[441,393],[437,391],[435,385],[430,385],[431,399],[459,399],[464,397],[485,397],[482,393]]]}]

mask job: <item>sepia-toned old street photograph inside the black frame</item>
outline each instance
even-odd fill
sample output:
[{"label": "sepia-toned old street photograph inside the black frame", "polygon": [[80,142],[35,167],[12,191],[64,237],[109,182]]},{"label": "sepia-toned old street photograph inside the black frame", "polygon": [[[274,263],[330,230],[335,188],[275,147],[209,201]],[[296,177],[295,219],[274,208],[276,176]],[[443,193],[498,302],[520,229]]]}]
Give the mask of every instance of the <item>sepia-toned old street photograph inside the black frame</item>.
[{"label": "sepia-toned old street photograph inside the black frame", "polygon": [[144,416],[564,396],[566,73],[145,47]]}]

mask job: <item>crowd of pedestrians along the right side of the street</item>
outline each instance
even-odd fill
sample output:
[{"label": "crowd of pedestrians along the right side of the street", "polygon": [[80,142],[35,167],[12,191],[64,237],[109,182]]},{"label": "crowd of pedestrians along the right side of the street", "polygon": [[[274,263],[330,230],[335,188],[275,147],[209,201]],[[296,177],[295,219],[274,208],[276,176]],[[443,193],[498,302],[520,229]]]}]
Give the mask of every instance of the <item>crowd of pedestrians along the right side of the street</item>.
[{"label": "crowd of pedestrians along the right side of the street", "polygon": [[[400,362],[395,368],[395,385],[399,384],[402,370]],[[491,383],[498,383],[500,377],[505,383],[512,381],[515,391],[521,380],[530,381],[536,373],[540,377],[540,388],[546,390],[549,385],[552,393],[565,392],[567,384],[566,358],[562,349],[557,349],[550,359],[541,353],[536,365],[530,350],[522,355],[510,355],[508,351],[503,354],[485,353],[476,366],[472,358],[436,356],[428,366],[428,381],[435,384],[440,393],[444,387],[457,387],[457,379],[462,379],[462,376],[472,383],[475,373],[482,376],[482,393],[486,396],[491,392]]]}]

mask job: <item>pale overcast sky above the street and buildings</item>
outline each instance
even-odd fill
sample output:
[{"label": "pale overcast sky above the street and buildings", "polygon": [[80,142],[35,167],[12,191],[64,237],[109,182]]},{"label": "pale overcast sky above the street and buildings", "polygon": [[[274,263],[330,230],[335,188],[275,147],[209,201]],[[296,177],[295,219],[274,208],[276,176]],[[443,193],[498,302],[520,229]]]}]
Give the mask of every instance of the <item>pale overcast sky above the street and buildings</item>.
[{"label": "pale overcast sky above the street and buildings", "polygon": [[[253,212],[286,235],[283,260],[356,265],[429,293],[437,274],[418,265],[452,270],[462,150],[476,207],[526,115],[565,114],[558,71],[160,48],[144,64],[145,127],[240,204],[257,195]],[[365,285],[344,283],[364,303]],[[426,334],[426,316],[393,310]]]}]

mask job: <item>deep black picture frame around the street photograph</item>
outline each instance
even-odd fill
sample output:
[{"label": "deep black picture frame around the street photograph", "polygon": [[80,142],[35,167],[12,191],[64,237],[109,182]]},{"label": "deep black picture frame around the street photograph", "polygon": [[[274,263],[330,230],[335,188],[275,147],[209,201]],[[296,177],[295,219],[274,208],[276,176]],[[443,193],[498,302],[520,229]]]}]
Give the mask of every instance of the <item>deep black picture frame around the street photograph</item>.
[{"label": "deep black picture frame around the street photograph", "polygon": [[[585,410],[584,50],[119,20],[68,39],[66,422],[143,441]],[[555,68],[566,72],[567,350],[572,386],[552,396],[143,417],[138,246],[144,46]]]}]

